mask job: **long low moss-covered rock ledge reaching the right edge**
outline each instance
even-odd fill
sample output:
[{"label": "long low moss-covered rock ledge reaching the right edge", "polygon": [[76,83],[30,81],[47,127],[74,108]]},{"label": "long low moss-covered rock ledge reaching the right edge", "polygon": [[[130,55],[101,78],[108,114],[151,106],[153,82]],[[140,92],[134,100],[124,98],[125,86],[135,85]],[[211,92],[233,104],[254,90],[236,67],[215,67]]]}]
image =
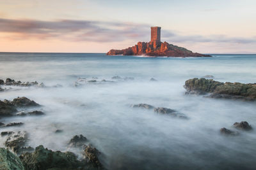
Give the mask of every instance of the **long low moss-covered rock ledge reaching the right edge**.
[{"label": "long low moss-covered rock ledge reaching the right edge", "polygon": [[205,78],[193,78],[185,82],[184,88],[187,94],[207,94],[209,97],[226,99],[256,99],[256,84],[248,83],[222,83]]}]

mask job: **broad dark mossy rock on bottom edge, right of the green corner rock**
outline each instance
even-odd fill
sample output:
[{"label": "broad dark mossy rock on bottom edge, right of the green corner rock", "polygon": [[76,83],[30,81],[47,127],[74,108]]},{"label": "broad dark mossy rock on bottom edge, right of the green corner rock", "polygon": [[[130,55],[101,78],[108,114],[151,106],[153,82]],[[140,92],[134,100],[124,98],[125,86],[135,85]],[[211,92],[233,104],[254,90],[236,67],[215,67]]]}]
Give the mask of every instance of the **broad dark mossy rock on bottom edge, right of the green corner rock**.
[{"label": "broad dark mossy rock on bottom edge, right of the green corner rock", "polygon": [[37,146],[35,152],[24,153],[20,155],[25,169],[98,169],[92,163],[84,160],[77,160],[77,157],[72,152],[53,152],[44,148],[44,146]]}]

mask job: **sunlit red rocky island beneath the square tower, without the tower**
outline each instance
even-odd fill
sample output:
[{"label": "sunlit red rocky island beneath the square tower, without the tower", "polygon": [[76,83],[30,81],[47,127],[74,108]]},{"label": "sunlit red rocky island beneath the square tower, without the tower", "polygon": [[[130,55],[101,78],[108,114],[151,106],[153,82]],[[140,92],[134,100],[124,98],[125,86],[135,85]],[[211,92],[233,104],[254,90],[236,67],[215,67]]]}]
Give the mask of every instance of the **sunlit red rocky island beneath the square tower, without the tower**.
[{"label": "sunlit red rocky island beneath the square tower, without the tower", "polygon": [[211,57],[202,53],[193,53],[186,48],[175,46],[167,42],[150,41],[148,43],[138,42],[124,50],[110,50],[107,55],[147,55],[162,57]]}]

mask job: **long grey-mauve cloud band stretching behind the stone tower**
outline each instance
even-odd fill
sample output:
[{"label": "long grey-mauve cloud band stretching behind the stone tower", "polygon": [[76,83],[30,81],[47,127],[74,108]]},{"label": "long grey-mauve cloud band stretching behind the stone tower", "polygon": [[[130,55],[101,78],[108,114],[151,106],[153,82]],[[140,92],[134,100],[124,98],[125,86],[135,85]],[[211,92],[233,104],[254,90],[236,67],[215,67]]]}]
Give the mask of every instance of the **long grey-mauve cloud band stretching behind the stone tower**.
[{"label": "long grey-mauve cloud band stretching behind the stone tower", "polygon": [[[8,39],[61,39],[63,41],[115,42],[131,39],[149,40],[150,25],[129,22],[100,22],[91,20],[12,20],[0,18],[0,32],[9,32]],[[256,38],[225,35],[183,36],[175,31],[162,30],[163,41],[256,43]]]}]

